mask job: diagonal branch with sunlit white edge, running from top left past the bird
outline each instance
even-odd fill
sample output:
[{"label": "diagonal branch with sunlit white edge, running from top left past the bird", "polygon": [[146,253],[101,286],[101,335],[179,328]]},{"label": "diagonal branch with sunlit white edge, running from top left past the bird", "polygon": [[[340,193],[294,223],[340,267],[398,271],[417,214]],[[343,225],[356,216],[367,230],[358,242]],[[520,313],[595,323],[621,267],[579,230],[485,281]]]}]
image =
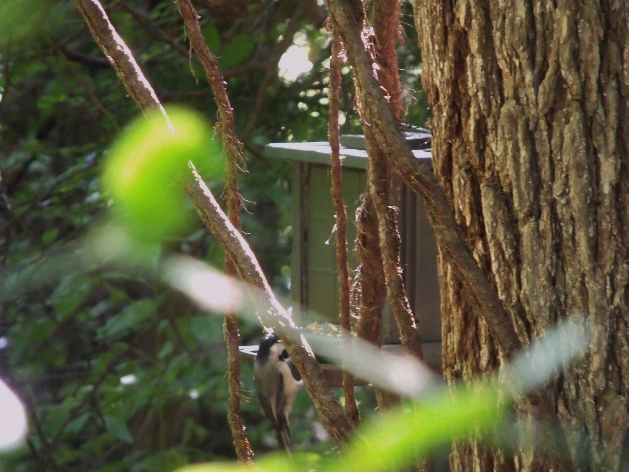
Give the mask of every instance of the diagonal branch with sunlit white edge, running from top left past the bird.
[{"label": "diagonal branch with sunlit white edge, running from top left past the bird", "polygon": [[[168,116],[152,87],[133,59],[131,51],[111,25],[101,4],[97,0],[76,0],[76,3],[87,21],[92,36],[112,62],[136,104],[144,113],[148,113],[153,107],[158,108],[168,121]],[[120,62],[116,62],[117,60]],[[292,361],[304,379],[306,390],[323,425],[334,441],[344,444],[353,432],[352,422],[332,393],[308,342],[301,336],[292,318],[273,295],[251,248],[228,220],[196,171],[192,172],[190,178],[184,177],[182,184],[201,220],[223,245],[227,256],[237,267],[240,278],[250,289],[262,322],[275,329],[277,335],[284,341]]]}]

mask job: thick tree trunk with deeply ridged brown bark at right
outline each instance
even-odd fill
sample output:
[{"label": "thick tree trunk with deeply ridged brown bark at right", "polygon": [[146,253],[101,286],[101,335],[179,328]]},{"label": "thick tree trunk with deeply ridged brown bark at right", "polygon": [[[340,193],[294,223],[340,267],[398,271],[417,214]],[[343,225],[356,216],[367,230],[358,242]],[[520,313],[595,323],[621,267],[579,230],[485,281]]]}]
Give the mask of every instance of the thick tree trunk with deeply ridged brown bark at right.
[{"label": "thick tree trunk with deeply ridged brown bark at right", "polygon": [[[415,21],[437,180],[518,338],[575,314],[593,326],[584,360],[547,389],[555,439],[582,469],[627,470],[629,6],[415,0]],[[498,366],[498,348],[445,257],[439,270],[454,382]],[[450,461],[561,469],[540,455],[466,442]]]}]

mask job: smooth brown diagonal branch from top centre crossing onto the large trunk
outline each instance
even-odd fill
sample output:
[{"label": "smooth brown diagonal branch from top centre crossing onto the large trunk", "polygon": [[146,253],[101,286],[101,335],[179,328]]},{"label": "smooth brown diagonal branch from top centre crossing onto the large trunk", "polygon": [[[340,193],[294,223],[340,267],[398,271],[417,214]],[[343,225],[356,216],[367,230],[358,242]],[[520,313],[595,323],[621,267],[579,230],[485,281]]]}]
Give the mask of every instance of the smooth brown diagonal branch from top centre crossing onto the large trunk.
[{"label": "smooth brown diagonal branch from top centre crossing onto the large trunk", "polygon": [[362,38],[363,9],[360,0],[326,0],[328,13],[343,39],[358,82],[359,99],[376,140],[386,152],[392,169],[423,201],[437,245],[442,254],[459,271],[470,293],[479,304],[479,312],[491,330],[505,357],[521,347],[508,313],[498,293],[476,264],[465,245],[448,201],[433,172],[413,155],[399,123],[382,94],[369,45]]}]

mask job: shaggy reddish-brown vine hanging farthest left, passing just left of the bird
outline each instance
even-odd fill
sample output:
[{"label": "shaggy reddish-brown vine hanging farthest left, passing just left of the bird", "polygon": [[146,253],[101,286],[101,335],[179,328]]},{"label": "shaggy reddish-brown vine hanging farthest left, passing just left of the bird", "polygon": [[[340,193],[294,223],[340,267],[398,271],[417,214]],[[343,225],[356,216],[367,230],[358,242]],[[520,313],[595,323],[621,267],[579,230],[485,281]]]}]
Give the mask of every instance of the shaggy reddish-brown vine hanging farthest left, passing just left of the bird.
[{"label": "shaggy reddish-brown vine hanging farthest left, passing just left of the bird", "polygon": [[[238,191],[238,164],[245,162],[242,143],[236,135],[233,110],[225,87],[225,81],[221,70],[218,68],[216,57],[209,50],[199,25],[198,14],[190,0],[177,0],[179,13],[184,20],[186,31],[192,49],[201,60],[206,77],[214,93],[216,101],[216,126],[214,130],[223,143],[223,156],[225,157],[225,189],[223,199],[227,203],[227,210],[231,224],[240,232],[240,206],[242,197]],[[236,277],[237,269],[229,257],[225,257],[225,275]],[[227,402],[227,419],[230,424],[231,434],[238,460],[243,463],[252,461],[253,452],[249,446],[247,430],[240,413],[240,335],[238,333],[237,317],[234,313],[225,314],[223,325],[225,343],[227,345],[227,378],[229,384],[229,398]]]}]

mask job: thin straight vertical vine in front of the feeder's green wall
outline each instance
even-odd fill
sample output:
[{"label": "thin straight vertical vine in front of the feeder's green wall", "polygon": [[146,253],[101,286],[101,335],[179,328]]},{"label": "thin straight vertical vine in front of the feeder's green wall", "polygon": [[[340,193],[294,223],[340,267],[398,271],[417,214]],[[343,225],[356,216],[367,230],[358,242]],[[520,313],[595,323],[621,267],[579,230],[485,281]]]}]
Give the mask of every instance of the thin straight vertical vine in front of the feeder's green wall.
[{"label": "thin straight vertical vine in front of the feeder's green wall", "polygon": [[[347,210],[343,201],[343,174],[341,162],[341,142],[338,127],[338,91],[341,84],[341,65],[343,64],[343,45],[336,33],[333,33],[330,57],[330,85],[328,98],[330,99],[330,118],[328,121],[328,139],[330,140],[330,177],[332,181],[331,193],[336,213],[335,239],[338,267],[339,286],[339,317],[341,327],[347,334],[352,332],[350,318],[350,267],[347,261]],[[343,359],[352,356],[352,337],[347,336],[343,341]],[[360,421],[358,402],[354,394],[353,376],[347,369],[343,369],[343,395],[345,395],[345,413],[357,425]]]}]

